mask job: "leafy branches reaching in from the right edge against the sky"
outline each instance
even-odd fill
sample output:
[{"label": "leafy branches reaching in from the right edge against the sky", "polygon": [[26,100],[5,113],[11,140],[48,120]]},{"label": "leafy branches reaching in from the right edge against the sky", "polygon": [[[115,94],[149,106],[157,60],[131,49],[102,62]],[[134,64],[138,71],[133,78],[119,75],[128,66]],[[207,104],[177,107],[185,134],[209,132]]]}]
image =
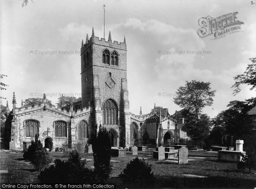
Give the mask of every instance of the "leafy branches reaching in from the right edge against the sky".
[{"label": "leafy branches reaching in from the right edge against the sky", "polygon": [[244,73],[234,77],[234,80],[236,81],[232,86],[232,88],[235,88],[233,92],[234,95],[241,91],[241,84],[250,85],[250,90],[256,89],[256,57],[249,58],[249,60],[251,63],[247,65]]}]

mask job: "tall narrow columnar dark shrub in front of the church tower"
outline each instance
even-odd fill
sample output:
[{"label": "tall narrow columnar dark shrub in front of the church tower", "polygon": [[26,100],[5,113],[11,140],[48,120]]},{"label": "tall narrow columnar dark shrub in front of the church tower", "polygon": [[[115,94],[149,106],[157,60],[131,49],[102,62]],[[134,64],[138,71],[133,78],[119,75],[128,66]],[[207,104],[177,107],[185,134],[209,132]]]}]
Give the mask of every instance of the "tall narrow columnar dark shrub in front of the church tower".
[{"label": "tall narrow columnar dark shrub in front of the church tower", "polygon": [[96,182],[105,182],[111,174],[111,136],[106,128],[99,127],[98,135],[93,133],[93,158]]}]

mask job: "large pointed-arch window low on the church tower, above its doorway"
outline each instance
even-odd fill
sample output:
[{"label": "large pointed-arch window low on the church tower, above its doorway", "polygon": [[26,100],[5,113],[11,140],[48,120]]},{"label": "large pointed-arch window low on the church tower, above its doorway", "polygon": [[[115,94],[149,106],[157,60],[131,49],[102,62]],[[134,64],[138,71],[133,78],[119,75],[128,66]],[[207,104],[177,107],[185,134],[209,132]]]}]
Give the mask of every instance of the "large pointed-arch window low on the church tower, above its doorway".
[{"label": "large pointed-arch window low on the church tower, above its doorway", "polygon": [[118,108],[114,100],[108,99],[102,106],[102,119],[104,125],[118,124]]}]

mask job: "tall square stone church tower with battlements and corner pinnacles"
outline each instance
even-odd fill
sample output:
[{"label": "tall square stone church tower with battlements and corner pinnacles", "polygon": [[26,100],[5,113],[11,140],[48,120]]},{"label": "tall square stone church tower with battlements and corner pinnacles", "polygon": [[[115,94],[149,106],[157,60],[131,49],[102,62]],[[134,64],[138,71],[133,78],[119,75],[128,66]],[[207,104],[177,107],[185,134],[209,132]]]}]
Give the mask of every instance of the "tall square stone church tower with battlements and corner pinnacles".
[{"label": "tall square stone church tower with battlements and corner pinnacles", "polygon": [[90,126],[111,133],[112,146],[130,146],[126,42],[86,36],[81,46],[82,107],[90,108]]}]

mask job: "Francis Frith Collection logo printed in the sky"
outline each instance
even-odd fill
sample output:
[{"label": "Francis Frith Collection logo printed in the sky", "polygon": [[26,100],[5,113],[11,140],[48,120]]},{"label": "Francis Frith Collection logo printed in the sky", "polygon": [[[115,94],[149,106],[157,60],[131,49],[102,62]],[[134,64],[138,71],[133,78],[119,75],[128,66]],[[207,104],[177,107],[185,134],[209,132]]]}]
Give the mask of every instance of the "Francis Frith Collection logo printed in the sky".
[{"label": "Francis Frith Collection logo printed in the sky", "polygon": [[201,17],[198,20],[198,24],[202,27],[198,29],[198,35],[200,37],[213,35],[213,39],[218,39],[227,34],[242,31],[241,24],[244,23],[237,20],[237,14],[238,12],[230,12],[216,18],[212,18],[211,16]]}]

